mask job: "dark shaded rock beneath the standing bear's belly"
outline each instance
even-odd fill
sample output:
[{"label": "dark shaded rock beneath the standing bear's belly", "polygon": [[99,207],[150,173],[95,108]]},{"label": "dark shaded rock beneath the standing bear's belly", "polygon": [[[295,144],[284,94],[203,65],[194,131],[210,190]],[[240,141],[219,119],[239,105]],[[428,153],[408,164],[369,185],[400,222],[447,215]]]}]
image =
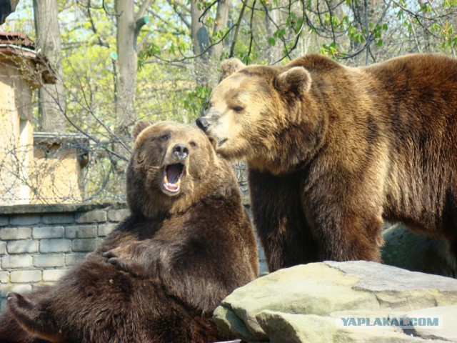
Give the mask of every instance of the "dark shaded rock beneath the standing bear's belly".
[{"label": "dark shaded rock beneath the standing bear's belly", "polygon": [[443,238],[425,237],[395,224],[383,231],[383,263],[413,272],[457,278],[457,263]]}]

